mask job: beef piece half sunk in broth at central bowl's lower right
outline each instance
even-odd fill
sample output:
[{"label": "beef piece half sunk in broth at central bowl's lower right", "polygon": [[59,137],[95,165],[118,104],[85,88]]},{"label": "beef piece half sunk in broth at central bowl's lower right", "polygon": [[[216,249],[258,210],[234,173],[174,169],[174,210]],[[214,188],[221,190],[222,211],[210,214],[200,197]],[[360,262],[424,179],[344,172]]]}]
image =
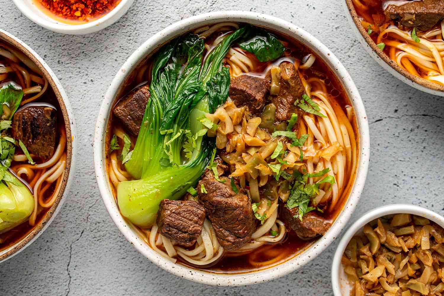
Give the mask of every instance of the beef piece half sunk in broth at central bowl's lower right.
[{"label": "beef piece half sunk in broth at central bowl's lower right", "polygon": [[293,217],[299,213],[299,208],[295,207],[289,209],[283,204],[279,205],[280,216],[291,230],[296,232],[297,236],[303,240],[309,240],[318,235],[324,235],[329,230],[331,223],[324,218],[318,216],[316,213],[309,212],[302,217],[302,221],[299,216]]}]

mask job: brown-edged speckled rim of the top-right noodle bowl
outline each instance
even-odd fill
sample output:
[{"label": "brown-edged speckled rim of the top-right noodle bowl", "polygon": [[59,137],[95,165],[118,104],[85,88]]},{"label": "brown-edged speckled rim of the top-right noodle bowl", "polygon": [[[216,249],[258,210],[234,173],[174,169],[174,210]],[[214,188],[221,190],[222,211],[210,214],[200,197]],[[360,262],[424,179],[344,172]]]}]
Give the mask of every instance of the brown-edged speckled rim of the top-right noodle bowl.
[{"label": "brown-edged speckled rim of the top-right noodle bowl", "polygon": [[408,80],[410,80],[412,83],[416,83],[421,87],[428,88],[432,91],[438,91],[441,92],[441,95],[444,95],[444,86],[440,86],[439,84],[432,83],[428,81],[427,79],[417,77],[415,75],[410,74],[408,71],[405,71],[403,68],[399,67],[397,63],[392,61],[388,55],[384,53],[384,51],[381,51],[379,47],[377,47],[376,43],[373,41],[373,39],[369,36],[367,33],[367,29],[365,29],[361,21],[359,19],[359,16],[357,15],[356,9],[353,6],[352,0],[345,0],[345,7],[346,10],[349,12],[349,16],[351,16],[351,19],[353,20],[353,23],[355,24],[355,27],[361,34],[362,38],[365,40],[365,42],[372,48],[373,52],[375,52],[386,64],[388,64],[390,67],[392,67],[393,70],[398,72],[400,75],[404,76]]}]

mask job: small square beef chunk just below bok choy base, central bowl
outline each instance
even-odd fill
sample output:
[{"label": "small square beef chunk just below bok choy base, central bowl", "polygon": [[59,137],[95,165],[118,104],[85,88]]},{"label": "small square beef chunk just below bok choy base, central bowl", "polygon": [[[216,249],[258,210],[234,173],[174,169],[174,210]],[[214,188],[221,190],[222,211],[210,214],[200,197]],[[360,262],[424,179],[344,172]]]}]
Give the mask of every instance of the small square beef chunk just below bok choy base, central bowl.
[{"label": "small square beef chunk just below bok choy base, central bowl", "polygon": [[159,233],[181,245],[192,246],[202,233],[205,208],[195,201],[164,199],[157,212]]}]

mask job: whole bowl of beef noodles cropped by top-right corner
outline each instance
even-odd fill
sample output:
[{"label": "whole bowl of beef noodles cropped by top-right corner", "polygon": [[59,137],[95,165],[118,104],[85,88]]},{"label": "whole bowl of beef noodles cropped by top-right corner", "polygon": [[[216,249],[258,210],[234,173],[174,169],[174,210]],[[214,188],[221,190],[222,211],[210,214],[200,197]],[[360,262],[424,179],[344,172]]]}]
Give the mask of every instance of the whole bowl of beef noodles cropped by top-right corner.
[{"label": "whole bowl of beef noodles cropped by top-right corner", "polygon": [[350,26],[377,63],[420,91],[444,96],[442,1],[345,0],[343,4]]}]

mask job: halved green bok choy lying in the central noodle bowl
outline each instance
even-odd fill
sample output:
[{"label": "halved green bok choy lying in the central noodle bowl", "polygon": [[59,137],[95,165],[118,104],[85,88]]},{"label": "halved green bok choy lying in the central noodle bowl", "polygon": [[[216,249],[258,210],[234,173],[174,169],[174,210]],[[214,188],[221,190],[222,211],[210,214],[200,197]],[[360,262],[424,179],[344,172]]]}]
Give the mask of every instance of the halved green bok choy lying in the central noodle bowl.
[{"label": "halved green bok choy lying in the central noodle bowl", "polygon": [[196,185],[210,162],[214,140],[206,136],[205,114],[228,97],[230,74],[222,59],[250,27],[227,36],[204,59],[204,40],[186,35],[163,46],[153,61],[151,97],[127,171],[138,180],[117,186],[124,217],[135,225],[155,222],[159,203],[178,199]]}]

